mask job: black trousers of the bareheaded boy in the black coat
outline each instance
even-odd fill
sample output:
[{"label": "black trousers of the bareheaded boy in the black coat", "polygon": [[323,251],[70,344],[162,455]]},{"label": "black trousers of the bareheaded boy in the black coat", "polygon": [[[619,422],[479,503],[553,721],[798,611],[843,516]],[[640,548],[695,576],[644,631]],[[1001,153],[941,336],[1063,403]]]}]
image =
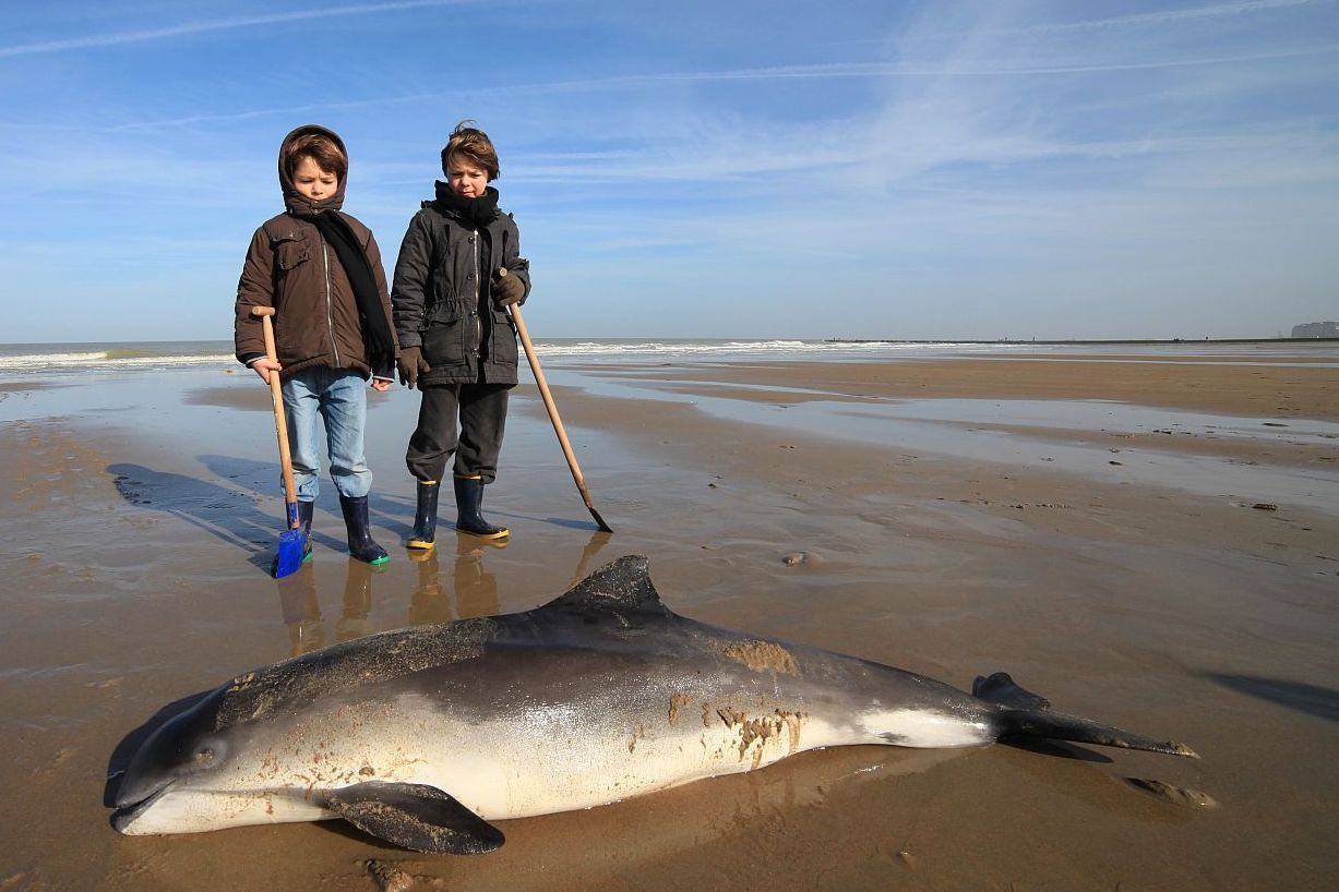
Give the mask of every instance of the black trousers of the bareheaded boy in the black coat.
[{"label": "black trousers of the bareheaded boy in the black coat", "polygon": [[[418,480],[441,480],[455,453],[455,476],[493,483],[506,429],[507,391],[514,384],[446,384],[423,388],[419,425],[410,437],[404,464]],[[457,437],[455,419],[461,433]]]}]

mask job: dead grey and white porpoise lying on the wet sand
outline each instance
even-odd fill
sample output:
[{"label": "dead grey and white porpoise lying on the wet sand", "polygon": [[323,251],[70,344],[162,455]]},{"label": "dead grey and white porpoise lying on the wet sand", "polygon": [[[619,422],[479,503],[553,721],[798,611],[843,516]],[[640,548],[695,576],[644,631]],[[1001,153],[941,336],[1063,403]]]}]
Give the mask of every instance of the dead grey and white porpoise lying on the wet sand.
[{"label": "dead grey and white porpoise lying on the wet sand", "polygon": [[490,821],[605,805],[848,744],[1055,738],[1194,756],[1050,710],[1008,675],[965,694],[706,626],[621,558],[522,614],[370,635],[246,673],[158,728],[122,833],[341,817],[403,848],[479,853]]}]

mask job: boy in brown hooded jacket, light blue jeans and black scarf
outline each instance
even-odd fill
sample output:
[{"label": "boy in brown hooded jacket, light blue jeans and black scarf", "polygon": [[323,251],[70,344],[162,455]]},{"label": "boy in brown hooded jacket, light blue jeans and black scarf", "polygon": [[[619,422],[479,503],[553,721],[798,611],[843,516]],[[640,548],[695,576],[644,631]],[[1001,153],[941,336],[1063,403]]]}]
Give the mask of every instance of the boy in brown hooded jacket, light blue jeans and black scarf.
[{"label": "boy in brown hooded jacket, light blue jeans and black scarf", "polygon": [[[303,526],[311,531],[320,488],[320,416],[348,551],[359,560],[384,563],[386,550],[368,531],[372,472],[363,452],[363,382],[371,376],[378,391],[390,388],[395,332],[376,239],[340,211],[347,173],[348,152],[333,131],[308,124],[284,138],[279,182],[287,210],[252,237],[237,285],[236,348],[237,358],[266,384],[274,373],[283,380]],[[274,308],[277,362],[265,354],[253,306]]]}]

